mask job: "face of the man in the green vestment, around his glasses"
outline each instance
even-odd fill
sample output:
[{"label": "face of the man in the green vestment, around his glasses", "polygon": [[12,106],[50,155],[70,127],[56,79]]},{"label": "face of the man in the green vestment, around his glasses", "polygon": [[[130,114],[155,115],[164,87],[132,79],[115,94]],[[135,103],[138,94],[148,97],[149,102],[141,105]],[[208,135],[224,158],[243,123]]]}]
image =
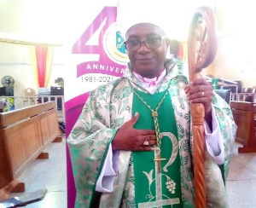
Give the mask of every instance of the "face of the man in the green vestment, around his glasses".
[{"label": "face of the man in the green vestment, around his glasses", "polygon": [[[151,38],[161,38],[165,32],[158,26],[149,23],[141,23],[132,26],[126,32],[126,41],[145,41]],[[145,43],[141,43],[141,48],[135,51],[127,50],[128,57],[134,72],[139,73],[144,78],[157,77],[164,68],[166,59],[166,38],[160,40],[160,47],[148,49]]]}]

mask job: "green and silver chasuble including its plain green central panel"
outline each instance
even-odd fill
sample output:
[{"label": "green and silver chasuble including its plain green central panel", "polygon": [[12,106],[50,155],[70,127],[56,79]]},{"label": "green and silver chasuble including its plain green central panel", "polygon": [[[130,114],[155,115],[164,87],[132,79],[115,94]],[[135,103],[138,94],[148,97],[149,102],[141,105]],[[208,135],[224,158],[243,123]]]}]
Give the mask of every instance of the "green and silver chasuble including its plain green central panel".
[{"label": "green and silver chasuble including its plain green central panel", "polygon": [[[165,67],[167,73],[159,91],[165,91],[169,87],[170,94],[165,96],[158,110],[160,134],[163,136],[160,139],[160,158],[166,159],[160,162],[161,175],[155,179],[156,170],[159,170],[154,162],[154,159],[158,159],[158,155],[154,155],[157,151],[131,153],[120,150],[119,174],[115,176],[113,192],[102,194],[100,207],[195,207],[193,134],[189,101],[185,93],[189,82],[183,75],[177,75],[172,60],[166,60]],[[140,89],[141,85],[132,73],[131,64],[126,69],[123,78],[115,79],[90,92],[83,111],[67,138],[77,190],[75,207],[90,207],[108,147],[117,130],[131,120],[134,113],[140,113],[135,128],[154,129],[154,118],[151,117],[150,110],[133,92],[134,89]],[[164,93],[145,96],[142,92],[137,92],[154,110],[161,103]],[[212,97],[212,107],[224,140],[226,178],[236,138],[236,124],[230,106],[216,94]],[[205,165],[207,207],[228,207],[219,166],[207,152]],[[159,204],[155,202],[156,199]],[[170,202],[169,205],[165,205],[166,202]]]}]

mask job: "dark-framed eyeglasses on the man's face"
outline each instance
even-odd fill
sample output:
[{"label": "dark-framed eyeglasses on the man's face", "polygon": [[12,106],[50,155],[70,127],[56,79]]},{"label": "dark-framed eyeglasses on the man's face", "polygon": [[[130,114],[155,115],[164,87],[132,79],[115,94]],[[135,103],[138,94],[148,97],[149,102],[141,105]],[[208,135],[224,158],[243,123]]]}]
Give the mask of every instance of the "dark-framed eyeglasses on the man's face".
[{"label": "dark-framed eyeglasses on the man's face", "polygon": [[160,47],[163,38],[166,37],[148,37],[144,41],[140,41],[138,38],[131,38],[124,42],[125,49],[130,51],[139,50],[142,47],[142,43],[144,43],[148,49],[157,49]]}]

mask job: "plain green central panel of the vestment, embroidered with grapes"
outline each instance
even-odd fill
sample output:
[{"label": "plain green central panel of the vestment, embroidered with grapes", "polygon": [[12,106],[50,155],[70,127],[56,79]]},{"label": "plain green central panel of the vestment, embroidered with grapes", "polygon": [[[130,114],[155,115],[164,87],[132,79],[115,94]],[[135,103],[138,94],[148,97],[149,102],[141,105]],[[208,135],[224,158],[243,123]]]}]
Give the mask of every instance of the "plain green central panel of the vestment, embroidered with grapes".
[{"label": "plain green central panel of the vestment, embroidered with grapes", "polygon": [[150,95],[136,90],[133,96],[132,114],[139,113],[135,129],[154,130],[152,112],[143,101],[154,111],[161,103],[157,110],[162,137],[160,148],[155,146],[154,151],[131,154],[138,208],[182,207],[177,125],[169,93],[160,101],[164,95],[165,91]]}]

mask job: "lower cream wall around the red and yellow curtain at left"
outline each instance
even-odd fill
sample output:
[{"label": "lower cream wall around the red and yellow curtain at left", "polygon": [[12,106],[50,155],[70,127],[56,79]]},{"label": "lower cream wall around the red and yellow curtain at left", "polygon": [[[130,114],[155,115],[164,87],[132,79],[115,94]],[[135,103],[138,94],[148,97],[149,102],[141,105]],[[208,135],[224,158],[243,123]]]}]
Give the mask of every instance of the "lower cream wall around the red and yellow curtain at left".
[{"label": "lower cream wall around the red and yellow curtain at left", "polygon": [[[2,78],[9,75],[15,79],[15,96],[23,96],[23,91],[30,87],[38,91],[38,83],[32,70],[30,46],[14,43],[0,43],[0,86]],[[53,50],[53,63],[49,74],[49,84],[55,86],[55,78],[63,78],[61,47]]]}]

